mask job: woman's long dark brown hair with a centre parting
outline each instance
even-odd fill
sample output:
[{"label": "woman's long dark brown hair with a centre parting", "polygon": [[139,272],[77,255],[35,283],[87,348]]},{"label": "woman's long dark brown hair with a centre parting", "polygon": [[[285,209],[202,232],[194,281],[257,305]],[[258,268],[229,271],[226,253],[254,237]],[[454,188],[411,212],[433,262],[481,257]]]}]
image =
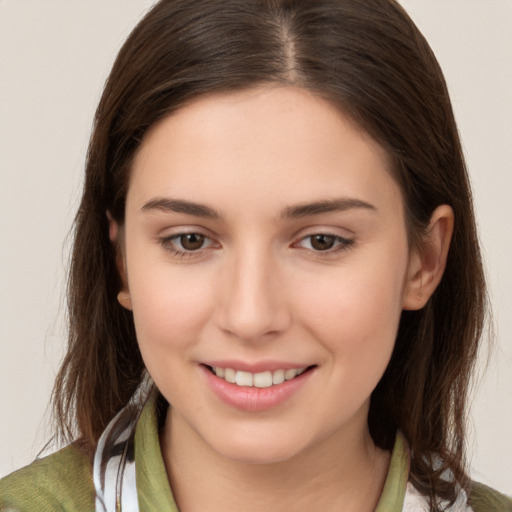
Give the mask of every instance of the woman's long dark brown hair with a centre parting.
[{"label": "woman's long dark brown hair with a centre parting", "polygon": [[455,230],[426,307],[404,311],[370,406],[370,432],[391,449],[399,429],[411,479],[453,500],[467,485],[466,397],[484,321],[485,284],[471,193],[448,91],[427,42],[393,0],[162,0],[122,47],[95,117],[69,277],[69,347],[54,405],[61,432],[93,449],[139,384],[144,364],[106,212],[123,224],[130,165],[146,130],[186,102],[262,83],[327,98],[389,152],[412,244],[433,210]]}]

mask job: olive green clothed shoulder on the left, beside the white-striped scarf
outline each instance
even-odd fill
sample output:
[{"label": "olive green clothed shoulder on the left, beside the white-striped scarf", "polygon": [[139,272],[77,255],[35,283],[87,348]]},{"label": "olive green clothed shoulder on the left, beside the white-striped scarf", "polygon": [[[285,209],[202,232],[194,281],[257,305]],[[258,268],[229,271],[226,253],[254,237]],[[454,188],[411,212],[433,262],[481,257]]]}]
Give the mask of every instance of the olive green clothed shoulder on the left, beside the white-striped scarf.
[{"label": "olive green clothed shoulder on the left, beside the white-striped scarf", "polygon": [[89,458],[75,444],[0,480],[0,512],[94,511]]}]

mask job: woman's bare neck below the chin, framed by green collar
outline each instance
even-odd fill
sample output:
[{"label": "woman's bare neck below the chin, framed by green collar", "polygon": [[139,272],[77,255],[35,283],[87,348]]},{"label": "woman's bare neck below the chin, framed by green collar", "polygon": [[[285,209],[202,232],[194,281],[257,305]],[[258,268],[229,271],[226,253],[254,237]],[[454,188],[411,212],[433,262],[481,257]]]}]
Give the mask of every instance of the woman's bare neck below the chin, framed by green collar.
[{"label": "woman's bare neck below the chin, framed by green collar", "polygon": [[170,410],[162,452],[181,512],[373,511],[389,465],[367,428],[333,434],[291,459],[253,464],[213,451]]}]

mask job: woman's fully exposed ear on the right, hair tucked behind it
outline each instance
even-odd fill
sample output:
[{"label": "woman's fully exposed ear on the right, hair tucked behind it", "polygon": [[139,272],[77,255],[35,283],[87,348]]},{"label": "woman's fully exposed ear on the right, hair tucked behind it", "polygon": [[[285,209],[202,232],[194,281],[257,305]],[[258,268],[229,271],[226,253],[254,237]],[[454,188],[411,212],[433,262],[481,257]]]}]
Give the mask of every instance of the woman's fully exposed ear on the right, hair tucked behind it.
[{"label": "woman's fully exposed ear on the right, hair tucked behind it", "polygon": [[441,282],[453,233],[453,210],[443,204],[430,219],[419,247],[411,253],[403,308],[421,309]]}]

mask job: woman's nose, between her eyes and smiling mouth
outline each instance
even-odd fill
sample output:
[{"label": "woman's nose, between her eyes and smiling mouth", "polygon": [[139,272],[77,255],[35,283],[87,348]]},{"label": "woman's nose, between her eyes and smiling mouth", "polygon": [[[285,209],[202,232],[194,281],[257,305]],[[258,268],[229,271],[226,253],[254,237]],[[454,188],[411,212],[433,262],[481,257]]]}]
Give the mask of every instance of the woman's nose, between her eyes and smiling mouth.
[{"label": "woman's nose, between her eyes and smiling mouth", "polygon": [[219,325],[224,332],[247,342],[270,339],[290,325],[286,287],[276,261],[269,254],[243,251],[227,264]]}]

